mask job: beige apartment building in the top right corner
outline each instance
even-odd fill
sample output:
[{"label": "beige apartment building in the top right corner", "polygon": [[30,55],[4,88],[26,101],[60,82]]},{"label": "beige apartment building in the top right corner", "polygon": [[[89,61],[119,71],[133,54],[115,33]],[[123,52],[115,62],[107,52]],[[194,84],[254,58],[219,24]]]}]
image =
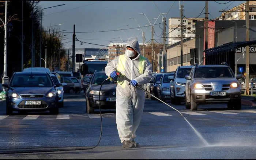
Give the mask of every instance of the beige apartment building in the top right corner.
[{"label": "beige apartment building in the top right corner", "polygon": [[[256,20],[256,1],[249,1],[249,19]],[[245,20],[246,2],[223,12],[218,20]]]}]

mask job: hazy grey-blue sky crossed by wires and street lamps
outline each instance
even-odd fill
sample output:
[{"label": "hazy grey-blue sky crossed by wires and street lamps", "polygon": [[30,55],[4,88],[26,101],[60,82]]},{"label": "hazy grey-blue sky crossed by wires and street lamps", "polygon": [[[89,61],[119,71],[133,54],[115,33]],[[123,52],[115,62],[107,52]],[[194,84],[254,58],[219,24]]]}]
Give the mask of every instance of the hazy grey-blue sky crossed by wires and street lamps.
[{"label": "hazy grey-blue sky crossed by wires and street lamps", "polygon": [[[181,1],[182,2],[182,1]],[[217,1],[219,3],[227,3],[229,1]],[[208,1],[208,12],[210,13],[209,19],[214,19],[221,15],[222,9],[230,9],[236,5],[244,3],[245,1],[230,1],[227,4],[218,4],[214,1]],[[142,32],[139,28],[128,29],[139,27],[135,20],[129,19],[129,17],[135,18],[141,29],[145,31],[145,25],[149,25],[148,20],[144,15],[138,15],[139,13],[144,13],[151,21],[151,24],[155,25],[155,35],[154,39],[158,43],[162,43],[161,33],[162,33],[162,16],[161,13],[166,13],[169,8],[169,12],[166,15],[166,23],[171,17],[180,17],[179,1],[40,1],[39,5],[42,8],[52,7],[59,4],[65,4],[60,7],[44,9],[44,15],[42,20],[42,26],[44,28],[59,25],[61,30],[67,30],[63,33],[67,40],[63,40],[65,47],[71,47],[72,45],[72,35],[73,35],[73,25],[76,25],[76,32],[94,32],[94,33],[76,33],[76,37],[84,42],[108,45],[109,41],[114,43],[122,43],[121,39],[125,42],[129,37],[138,36],[139,43],[142,43]],[[158,11],[156,5],[160,12]],[[184,12],[183,15],[186,17],[197,17],[205,6],[205,1],[184,1]],[[226,10],[227,10],[226,9]],[[158,20],[153,20],[154,18]],[[165,16],[165,15],[163,15]],[[203,14],[199,17],[205,17]],[[111,32],[97,32],[97,31],[109,31],[127,29],[124,31],[111,31]],[[137,30],[138,29],[138,30]],[[96,33],[95,33],[96,32]],[[168,33],[168,28],[166,27],[166,33]],[[121,37],[121,38],[119,38]],[[147,27],[145,31],[146,41],[151,39],[150,27]],[[156,43],[156,42],[155,42]],[[167,42],[166,42],[167,43]],[[102,48],[98,45],[85,44],[80,45],[80,42],[76,41],[76,48]]]}]

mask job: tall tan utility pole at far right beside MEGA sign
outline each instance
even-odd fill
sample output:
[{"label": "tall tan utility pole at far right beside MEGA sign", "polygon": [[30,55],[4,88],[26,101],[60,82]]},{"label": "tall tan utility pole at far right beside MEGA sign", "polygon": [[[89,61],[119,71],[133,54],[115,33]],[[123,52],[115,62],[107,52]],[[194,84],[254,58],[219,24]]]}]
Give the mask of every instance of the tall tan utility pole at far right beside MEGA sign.
[{"label": "tall tan utility pole at far right beside MEGA sign", "polygon": [[[249,41],[249,3],[246,1],[246,11],[245,11],[245,41]],[[249,95],[249,46],[246,46],[245,53],[245,95]],[[252,90],[251,90],[252,92]]]}]

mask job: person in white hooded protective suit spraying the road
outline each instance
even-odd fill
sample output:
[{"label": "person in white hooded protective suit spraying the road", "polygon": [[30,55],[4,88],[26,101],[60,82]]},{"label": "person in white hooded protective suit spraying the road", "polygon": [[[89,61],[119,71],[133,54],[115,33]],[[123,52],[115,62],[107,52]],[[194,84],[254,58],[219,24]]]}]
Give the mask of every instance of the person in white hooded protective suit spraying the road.
[{"label": "person in white hooded protective suit spraying the road", "polygon": [[123,148],[139,146],[134,139],[144,109],[145,92],[136,85],[144,87],[152,77],[151,70],[150,62],[140,55],[137,40],[128,42],[125,54],[117,56],[105,68],[106,75],[112,79],[119,71],[131,80],[128,82],[120,77],[116,88],[116,124]]}]

